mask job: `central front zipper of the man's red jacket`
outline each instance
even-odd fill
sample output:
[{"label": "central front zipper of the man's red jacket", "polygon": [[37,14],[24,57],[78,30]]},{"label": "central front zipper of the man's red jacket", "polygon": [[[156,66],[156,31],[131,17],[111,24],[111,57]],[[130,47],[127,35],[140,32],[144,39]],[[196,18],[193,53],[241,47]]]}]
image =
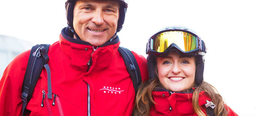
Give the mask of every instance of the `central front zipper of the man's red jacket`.
[{"label": "central front zipper of the man's red jacket", "polygon": [[[92,66],[92,56],[93,56],[93,53],[98,49],[99,47],[96,47],[94,48],[93,47],[93,52],[91,53],[91,57],[90,57],[90,60],[88,61],[87,65],[88,65],[88,69],[87,69],[87,72],[89,71],[90,69],[90,66]],[[90,116],[90,85],[87,83],[87,116]]]}]

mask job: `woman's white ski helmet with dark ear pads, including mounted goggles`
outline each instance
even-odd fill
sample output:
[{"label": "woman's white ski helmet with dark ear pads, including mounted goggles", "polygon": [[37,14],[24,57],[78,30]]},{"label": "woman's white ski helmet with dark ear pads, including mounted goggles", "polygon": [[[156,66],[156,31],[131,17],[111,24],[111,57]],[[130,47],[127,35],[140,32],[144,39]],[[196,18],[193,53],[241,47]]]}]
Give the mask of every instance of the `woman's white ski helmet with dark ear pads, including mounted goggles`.
[{"label": "woman's white ski helmet with dark ear pads, including mounted goggles", "polygon": [[146,54],[149,78],[156,77],[156,57],[164,57],[172,51],[196,58],[195,84],[200,85],[204,80],[204,55],[207,48],[195,31],[181,26],[163,28],[148,40]]}]

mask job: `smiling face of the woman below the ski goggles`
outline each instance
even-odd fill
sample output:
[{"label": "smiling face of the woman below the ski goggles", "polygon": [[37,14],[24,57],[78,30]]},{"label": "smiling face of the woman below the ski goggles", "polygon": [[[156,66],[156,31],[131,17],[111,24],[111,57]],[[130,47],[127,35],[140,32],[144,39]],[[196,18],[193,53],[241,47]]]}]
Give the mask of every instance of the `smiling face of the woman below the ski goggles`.
[{"label": "smiling face of the woman below the ski goggles", "polygon": [[167,90],[178,92],[191,88],[195,82],[195,57],[183,57],[170,52],[157,58],[160,83]]}]

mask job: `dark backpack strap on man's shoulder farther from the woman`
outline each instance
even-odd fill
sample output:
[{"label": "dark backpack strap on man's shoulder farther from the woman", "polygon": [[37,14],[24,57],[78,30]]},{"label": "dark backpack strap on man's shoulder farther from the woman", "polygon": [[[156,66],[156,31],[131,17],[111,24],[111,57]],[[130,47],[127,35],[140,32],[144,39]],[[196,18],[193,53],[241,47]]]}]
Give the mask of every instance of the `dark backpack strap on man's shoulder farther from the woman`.
[{"label": "dark backpack strap on man's shoulder farther from the woman", "polygon": [[[41,75],[43,66],[47,64],[49,61],[49,57],[47,55],[49,49],[49,44],[37,44],[32,47],[29,62],[27,65],[25,77],[22,85],[22,94],[21,99],[23,101],[22,104],[22,115],[25,115],[26,105],[32,97],[32,93],[34,91],[35,85],[38,81],[39,76]],[[48,65],[48,64],[47,64]],[[48,66],[49,67],[49,66]],[[47,69],[47,75],[48,74]]]}]

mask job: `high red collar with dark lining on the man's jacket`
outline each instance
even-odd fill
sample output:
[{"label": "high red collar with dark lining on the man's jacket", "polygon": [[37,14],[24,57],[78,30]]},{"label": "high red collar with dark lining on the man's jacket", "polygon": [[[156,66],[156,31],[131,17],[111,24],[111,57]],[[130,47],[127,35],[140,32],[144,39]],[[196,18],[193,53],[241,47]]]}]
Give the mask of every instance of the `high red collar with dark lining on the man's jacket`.
[{"label": "high red collar with dark lining on the man's jacket", "polygon": [[[60,35],[60,45],[62,51],[70,58],[71,65],[79,70],[87,71],[90,58],[92,58],[93,66],[97,68],[105,68],[111,64],[113,57],[119,47],[119,38],[107,41],[93,52],[93,46],[79,39],[74,39],[68,28],[63,28]],[[93,53],[93,54],[92,54]]]}]

